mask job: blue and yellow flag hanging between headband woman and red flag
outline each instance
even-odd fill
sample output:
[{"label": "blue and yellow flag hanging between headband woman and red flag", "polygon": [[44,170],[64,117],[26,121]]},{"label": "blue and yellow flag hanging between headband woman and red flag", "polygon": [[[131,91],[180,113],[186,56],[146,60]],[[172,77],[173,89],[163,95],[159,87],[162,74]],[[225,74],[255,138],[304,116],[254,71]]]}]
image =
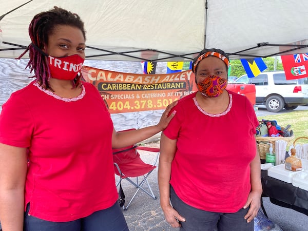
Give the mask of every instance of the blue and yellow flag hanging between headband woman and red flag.
[{"label": "blue and yellow flag hanging between headband woman and red flag", "polygon": [[248,78],[256,77],[267,68],[261,57],[246,60],[241,59],[241,62],[247,73]]}]

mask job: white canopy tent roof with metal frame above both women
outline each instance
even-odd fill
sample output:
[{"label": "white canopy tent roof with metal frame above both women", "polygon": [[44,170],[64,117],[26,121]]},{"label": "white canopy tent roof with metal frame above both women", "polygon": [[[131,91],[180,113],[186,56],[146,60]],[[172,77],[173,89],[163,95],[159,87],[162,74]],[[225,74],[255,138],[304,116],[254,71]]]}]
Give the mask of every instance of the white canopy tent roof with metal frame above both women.
[{"label": "white canopy tent roof with metal frame above both women", "polygon": [[53,6],[85,22],[88,60],[189,61],[204,48],[220,48],[231,59],[308,52],[305,0],[26,2],[1,3],[0,57],[19,56],[30,43],[33,16]]}]

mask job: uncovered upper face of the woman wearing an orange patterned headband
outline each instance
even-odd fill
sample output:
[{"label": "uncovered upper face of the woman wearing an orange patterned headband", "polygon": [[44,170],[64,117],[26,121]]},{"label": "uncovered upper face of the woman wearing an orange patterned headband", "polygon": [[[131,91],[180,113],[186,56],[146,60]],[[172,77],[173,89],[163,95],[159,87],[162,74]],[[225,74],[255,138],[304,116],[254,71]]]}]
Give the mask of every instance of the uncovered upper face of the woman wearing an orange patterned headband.
[{"label": "uncovered upper face of the woman wearing an orange patterned headband", "polygon": [[218,57],[208,56],[200,61],[196,72],[196,82],[201,83],[209,75],[217,75],[221,78],[227,79],[227,67]]}]

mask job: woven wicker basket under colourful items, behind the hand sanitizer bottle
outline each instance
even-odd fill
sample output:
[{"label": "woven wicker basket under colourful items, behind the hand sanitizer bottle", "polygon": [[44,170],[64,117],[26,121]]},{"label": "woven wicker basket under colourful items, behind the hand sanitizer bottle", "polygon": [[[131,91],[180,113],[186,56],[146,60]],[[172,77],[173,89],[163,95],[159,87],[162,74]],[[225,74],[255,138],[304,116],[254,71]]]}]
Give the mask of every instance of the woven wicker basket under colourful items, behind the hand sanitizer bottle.
[{"label": "woven wicker basket under colourful items, behind the hand sanitizer bottle", "polygon": [[269,152],[269,143],[272,144],[273,150],[275,150],[276,140],[284,140],[286,142],[290,142],[294,138],[294,134],[291,137],[256,137],[260,159],[266,159],[266,152]]}]

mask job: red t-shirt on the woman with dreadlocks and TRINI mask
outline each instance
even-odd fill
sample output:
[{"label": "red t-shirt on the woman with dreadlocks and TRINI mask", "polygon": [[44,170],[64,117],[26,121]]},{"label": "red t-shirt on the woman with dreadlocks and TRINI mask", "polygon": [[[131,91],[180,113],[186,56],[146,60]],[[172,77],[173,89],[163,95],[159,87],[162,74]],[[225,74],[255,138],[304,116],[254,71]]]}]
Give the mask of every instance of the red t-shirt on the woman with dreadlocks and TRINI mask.
[{"label": "red t-shirt on the woman with dreadlocks and TRINI mask", "polygon": [[0,142],[28,149],[25,205],[34,217],[72,221],[117,201],[113,124],[98,90],[83,85],[83,98],[65,102],[32,82],[3,105]]}]

